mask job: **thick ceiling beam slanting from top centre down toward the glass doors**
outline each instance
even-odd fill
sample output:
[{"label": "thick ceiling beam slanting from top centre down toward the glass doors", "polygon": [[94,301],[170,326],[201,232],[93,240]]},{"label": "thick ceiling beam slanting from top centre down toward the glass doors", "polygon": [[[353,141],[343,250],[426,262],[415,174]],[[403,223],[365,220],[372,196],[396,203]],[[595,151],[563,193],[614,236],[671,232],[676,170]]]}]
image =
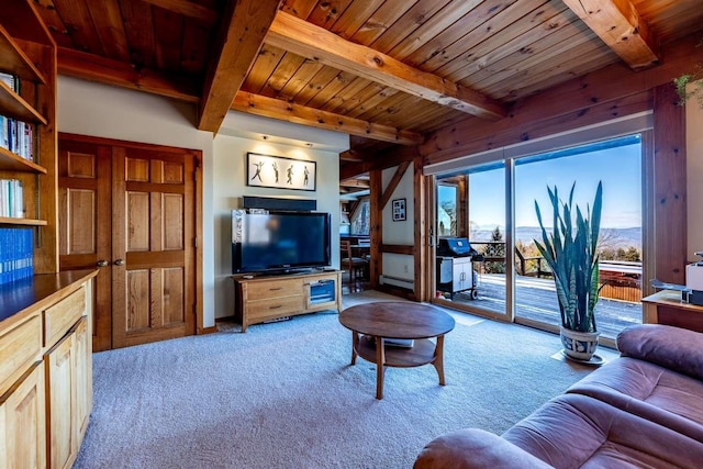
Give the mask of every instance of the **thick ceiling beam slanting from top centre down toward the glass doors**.
[{"label": "thick ceiling beam slanting from top centre down toward the glass doors", "polygon": [[266,42],[303,57],[377,81],[469,114],[498,120],[506,115],[498,101],[439,76],[413,68],[370,47],[279,11]]}]

